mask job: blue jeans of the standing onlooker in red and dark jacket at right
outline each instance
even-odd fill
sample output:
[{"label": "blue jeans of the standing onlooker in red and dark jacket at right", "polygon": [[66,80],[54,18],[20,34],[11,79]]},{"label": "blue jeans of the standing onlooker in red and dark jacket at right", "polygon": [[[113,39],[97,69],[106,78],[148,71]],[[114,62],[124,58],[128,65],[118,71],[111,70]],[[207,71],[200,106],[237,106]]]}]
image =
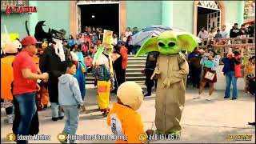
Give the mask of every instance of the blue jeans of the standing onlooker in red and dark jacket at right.
[{"label": "blue jeans of the standing onlooker in red and dark jacket at right", "polygon": [[225,97],[230,97],[230,86],[232,83],[233,86],[233,98],[238,98],[238,89],[237,89],[237,80],[238,78],[235,78],[234,71],[230,71],[226,73],[226,90],[225,90]]}]

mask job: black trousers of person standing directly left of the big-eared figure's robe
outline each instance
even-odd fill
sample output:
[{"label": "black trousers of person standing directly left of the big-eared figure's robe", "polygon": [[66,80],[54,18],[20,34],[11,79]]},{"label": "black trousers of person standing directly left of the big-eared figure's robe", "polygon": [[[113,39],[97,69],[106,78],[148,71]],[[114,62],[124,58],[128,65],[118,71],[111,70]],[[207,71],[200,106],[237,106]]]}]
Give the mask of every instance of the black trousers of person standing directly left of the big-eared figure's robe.
[{"label": "black trousers of person standing directly left of the big-eared figure's robe", "polygon": [[154,86],[155,89],[157,89],[158,80],[157,79],[150,79],[152,74],[154,73],[154,70],[146,69],[145,75],[146,75],[146,90],[147,93],[151,94],[152,87]]}]

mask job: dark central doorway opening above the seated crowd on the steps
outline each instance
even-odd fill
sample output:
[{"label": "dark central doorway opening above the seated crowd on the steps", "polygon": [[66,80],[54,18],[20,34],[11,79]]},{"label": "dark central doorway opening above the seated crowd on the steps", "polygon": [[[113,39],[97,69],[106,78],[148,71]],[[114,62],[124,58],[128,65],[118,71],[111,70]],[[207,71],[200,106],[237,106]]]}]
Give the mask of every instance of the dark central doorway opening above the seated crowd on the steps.
[{"label": "dark central doorway opening above the seated crowd on the steps", "polygon": [[102,30],[112,30],[119,34],[119,4],[78,5],[81,10],[81,27],[101,27]]}]

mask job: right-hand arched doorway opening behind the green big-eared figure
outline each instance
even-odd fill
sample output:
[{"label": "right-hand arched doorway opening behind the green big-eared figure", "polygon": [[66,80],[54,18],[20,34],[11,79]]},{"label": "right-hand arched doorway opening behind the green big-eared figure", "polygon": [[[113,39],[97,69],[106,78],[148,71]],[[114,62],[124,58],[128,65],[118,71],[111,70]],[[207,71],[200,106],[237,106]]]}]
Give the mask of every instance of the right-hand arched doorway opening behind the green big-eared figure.
[{"label": "right-hand arched doorway opening behind the green big-eared figure", "polygon": [[207,31],[210,31],[210,29],[214,26],[216,26],[218,29],[221,26],[220,22],[220,10],[212,10],[198,6],[197,34],[202,27],[204,27]]}]

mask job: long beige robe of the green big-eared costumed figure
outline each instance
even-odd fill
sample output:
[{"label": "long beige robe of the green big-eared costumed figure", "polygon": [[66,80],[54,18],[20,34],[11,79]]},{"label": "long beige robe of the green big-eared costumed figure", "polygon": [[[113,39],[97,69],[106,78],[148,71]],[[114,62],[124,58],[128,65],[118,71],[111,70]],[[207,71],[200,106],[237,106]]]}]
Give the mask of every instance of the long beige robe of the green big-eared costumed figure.
[{"label": "long beige robe of the green big-eared costumed figure", "polygon": [[181,130],[179,124],[185,104],[186,76],[189,65],[183,54],[159,54],[155,74],[159,74],[155,99],[155,125],[166,134]]}]

